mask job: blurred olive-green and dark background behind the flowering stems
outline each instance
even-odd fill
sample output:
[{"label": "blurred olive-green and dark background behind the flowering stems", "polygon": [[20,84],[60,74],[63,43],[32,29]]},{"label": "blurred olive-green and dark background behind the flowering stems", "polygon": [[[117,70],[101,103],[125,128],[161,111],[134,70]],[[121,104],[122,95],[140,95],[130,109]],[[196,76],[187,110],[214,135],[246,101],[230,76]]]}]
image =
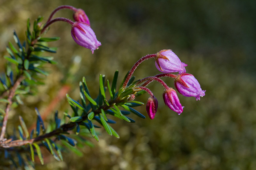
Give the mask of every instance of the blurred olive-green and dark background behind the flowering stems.
[{"label": "blurred olive-green and dark background behind the flowering stems", "polygon": [[[256,167],[256,1],[99,1],[99,0],[0,0],[0,52],[6,55],[12,30],[21,40],[27,18],[38,15],[47,20],[59,5],[82,8],[90,18],[91,27],[101,42],[91,51],[73,41],[70,25],[55,23],[47,33],[61,40],[50,43],[58,47],[54,54],[58,64],[49,67],[46,86],[40,86],[38,96],[28,96],[26,105],[18,108],[28,125],[35,119],[34,107],[44,109],[58,93],[70,63],[81,56],[81,66],[75,76],[65,81],[72,85],[70,96],[78,99],[78,83],[87,78],[92,95],[98,92],[98,75],[112,80],[119,70],[119,83],[132,65],[146,54],[172,49],[187,73],[195,75],[206,90],[205,97],[178,94],[182,106],[177,115],[164,105],[163,88],[152,83],[149,88],[158,98],[155,119],[139,119],[136,123],[118,120],[113,125],[120,139],[99,130],[100,142],[90,139],[94,148],[83,147],[83,156],[63,153],[64,162],[44,155],[45,166],[37,169],[124,169],[124,170],[186,170],[186,169],[255,169]],[[72,18],[69,10],[56,17]],[[3,71],[4,59],[0,59]],[[137,79],[159,74],[154,60],[143,62],[134,75]],[[173,80],[163,78],[169,86]],[[95,92],[95,93],[93,93]],[[148,95],[140,97],[146,103]],[[69,109],[67,101],[55,108]],[[17,111],[17,110],[16,110]],[[138,111],[146,115],[145,106]],[[49,119],[53,118],[53,114]],[[17,113],[10,122],[18,125]],[[9,127],[12,130],[13,127]]]}]

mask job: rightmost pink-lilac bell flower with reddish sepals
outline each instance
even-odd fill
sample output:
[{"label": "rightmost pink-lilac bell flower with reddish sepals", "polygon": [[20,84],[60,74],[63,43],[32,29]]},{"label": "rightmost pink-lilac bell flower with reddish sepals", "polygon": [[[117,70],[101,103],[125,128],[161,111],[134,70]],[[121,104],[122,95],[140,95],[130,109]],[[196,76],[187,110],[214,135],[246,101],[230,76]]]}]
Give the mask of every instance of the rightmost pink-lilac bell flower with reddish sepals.
[{"label": "rightmost pink-lilac bell flower with reddish sepals", "polygon": [[196,100],[200,100],[200,97],[205,95],[206,90],[201,89],[200,84],[192,74],[182,73],[178,75],[174,85],[178,92],[186,97],[195,97]]}]

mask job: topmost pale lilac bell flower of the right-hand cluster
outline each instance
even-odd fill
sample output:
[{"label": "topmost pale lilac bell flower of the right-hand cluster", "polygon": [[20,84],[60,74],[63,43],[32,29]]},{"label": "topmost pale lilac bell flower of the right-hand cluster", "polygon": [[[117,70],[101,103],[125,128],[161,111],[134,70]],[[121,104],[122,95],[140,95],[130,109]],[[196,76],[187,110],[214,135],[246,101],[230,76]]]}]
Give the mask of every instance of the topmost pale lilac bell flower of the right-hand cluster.
[{"label": "topmost pale lilac bell flower of the right-hand cluster", "polygon": [[181,62],[172,50],[161,50],[155,58],[155,66],[163,73],[186,73],[187,64]]}]

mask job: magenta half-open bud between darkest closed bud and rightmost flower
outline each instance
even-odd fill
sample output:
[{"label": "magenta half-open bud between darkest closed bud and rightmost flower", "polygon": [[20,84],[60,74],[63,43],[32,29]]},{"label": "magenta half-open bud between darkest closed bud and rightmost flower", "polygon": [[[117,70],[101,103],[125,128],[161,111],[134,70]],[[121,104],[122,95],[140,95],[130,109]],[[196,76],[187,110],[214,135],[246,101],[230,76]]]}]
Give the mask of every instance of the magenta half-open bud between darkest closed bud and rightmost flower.
[{"label": "magenta half-open bud between darkest closed bud and rightmost flower", "polygon": [[175,111],[180,115],[183,112],[183,107],[181,106],[180,100],[177,96],[177,93],[174,89],[169,88],[163,93],[164,103],[171,110]]}]

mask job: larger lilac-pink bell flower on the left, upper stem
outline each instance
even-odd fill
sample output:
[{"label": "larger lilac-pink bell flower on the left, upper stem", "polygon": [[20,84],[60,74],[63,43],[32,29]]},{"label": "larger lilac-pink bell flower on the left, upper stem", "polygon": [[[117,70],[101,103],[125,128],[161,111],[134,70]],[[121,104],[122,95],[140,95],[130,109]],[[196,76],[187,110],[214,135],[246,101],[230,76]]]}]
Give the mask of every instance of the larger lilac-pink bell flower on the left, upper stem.
[{"label": "larger lilac-pink bell flower on the left, upper stem", "polygon": [[86,23],[75,22],[72,25],[71,35],[78,45],[91,49],[92,53],[101,45],[91,27]]}]

